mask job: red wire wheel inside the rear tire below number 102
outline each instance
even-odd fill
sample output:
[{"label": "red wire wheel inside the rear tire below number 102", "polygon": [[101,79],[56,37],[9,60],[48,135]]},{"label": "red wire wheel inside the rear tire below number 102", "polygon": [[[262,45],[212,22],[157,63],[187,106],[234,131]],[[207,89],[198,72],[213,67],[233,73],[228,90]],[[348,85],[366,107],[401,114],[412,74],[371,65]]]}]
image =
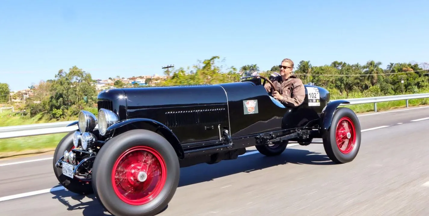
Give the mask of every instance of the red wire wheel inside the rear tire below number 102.
[{"label": "red wire wheel inside the rear tire below number 102", "polygon": [[335,139],[341,153],[348,154],[353,150],[356,143],[356,129],[349,117],[344,116],[338,121]]}]

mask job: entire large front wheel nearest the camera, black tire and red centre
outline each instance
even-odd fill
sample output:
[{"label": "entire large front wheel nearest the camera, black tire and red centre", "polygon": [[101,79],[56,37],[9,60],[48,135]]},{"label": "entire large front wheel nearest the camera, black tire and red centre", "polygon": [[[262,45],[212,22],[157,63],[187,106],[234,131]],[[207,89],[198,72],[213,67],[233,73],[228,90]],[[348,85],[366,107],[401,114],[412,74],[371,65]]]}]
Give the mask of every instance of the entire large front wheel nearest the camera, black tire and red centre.
[{"label": "entire large front wheel nearest the camera, black tire and red centre", "polygon": [[97,199],[115,216],[160,213],[175,194],[179,177],[174,148],[149,130],[112,138],[100,149],[93,167]]}]

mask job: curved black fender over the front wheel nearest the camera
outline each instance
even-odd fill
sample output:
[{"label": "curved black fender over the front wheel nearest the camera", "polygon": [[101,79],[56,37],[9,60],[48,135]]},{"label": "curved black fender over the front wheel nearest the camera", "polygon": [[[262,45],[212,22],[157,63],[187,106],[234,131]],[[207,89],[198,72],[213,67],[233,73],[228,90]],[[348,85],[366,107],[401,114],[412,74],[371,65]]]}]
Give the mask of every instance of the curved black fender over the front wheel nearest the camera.
[{"label": "curved black fender over the front wheel nearest the camera", "polygon": [[[168,142],[171,143],[174,150],[177,153],[177,156],[181,159],[184,158],[184,152],[183,148],[180,145],[179,139],[177,136],[170,130],[167,126],[160,123],[159,121],[155,121],[150,118],[131,118],[124,121],[120,121],[116,124],[113,124],[112,126],[107,128],[107,133],[112,132],[113,130],[123,128],[124,126],[132,126],[134,128],[130,129],[145,129],[145,130],[151,130],[157,133],[158,131],[165,137],[165,139],[168,140]],[[150,127],[148,127],[150,126]],[[127,130],[124,130],[125,132]],[[122,133],[122,132],[120,132]]]}]

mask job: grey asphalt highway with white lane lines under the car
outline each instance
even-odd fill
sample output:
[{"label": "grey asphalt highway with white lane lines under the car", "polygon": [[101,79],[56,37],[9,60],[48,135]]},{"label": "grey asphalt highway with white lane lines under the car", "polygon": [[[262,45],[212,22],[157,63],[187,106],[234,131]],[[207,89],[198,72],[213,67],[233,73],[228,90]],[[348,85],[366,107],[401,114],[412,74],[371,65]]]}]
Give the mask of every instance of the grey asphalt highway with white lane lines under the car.
[{"label": "grey asphalt highway with white lane lines under the car", "polygon": [[[351,163],[333,164],[322,144],[290,146],[272,158],[249,148],[238,160],[182,168],[159,216],[429,215],[429,107],[359,119],[362,145]],[[92,196],[52,189],[51,160],[19,163],[47,157],[0,162],[2,216],[109,215]]]}]

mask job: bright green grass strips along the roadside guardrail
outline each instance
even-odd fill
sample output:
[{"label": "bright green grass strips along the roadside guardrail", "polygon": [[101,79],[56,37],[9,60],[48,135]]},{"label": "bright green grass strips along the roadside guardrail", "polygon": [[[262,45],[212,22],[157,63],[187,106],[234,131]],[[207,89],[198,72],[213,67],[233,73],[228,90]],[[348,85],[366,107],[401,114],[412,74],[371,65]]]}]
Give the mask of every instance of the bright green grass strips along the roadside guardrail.
[{"label": "bright green grass strips along the roadside guardrail", "polygon": [[[409,107],[415,107],[420,105],[429,104],[429,98],[422,99],[412,99],[408,101]],[[406,103],[404,101],[387,101],[377,103],[377,111],[385,111],[394,108],[405,107]],[[373,112],[374,104],[356,104],[356,105],[347,105],[341,107],[349,107],[353,109],[356,113],[362,112]],[[33,118],[22,118],[22,117],[8,117],[6,114],[0,114],[0,127],[2,126],[11,126],[11,125],[21,125],[21,124],[36,124],[48,122],[42,118],[42,114],[37,115]],[[11,139],[0,139],[0,158],[12,157],[20,154],[33,154],[41,153],[45,151],[52,151],[55,149],[56,145],[67,133],[58,133],[51,135],[40,135],[40,136],[30,136],[30,137],[21,137],[21,138],[11,138]]]}]

